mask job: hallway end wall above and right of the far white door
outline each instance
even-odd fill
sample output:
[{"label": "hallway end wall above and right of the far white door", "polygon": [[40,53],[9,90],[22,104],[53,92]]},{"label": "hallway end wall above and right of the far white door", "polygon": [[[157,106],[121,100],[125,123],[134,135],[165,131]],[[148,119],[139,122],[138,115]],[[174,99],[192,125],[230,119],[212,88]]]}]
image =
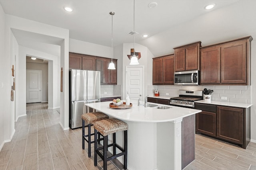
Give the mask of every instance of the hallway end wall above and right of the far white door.
[{"label": "hallway end wall above and right of the far white door", "polygon": [[42,70],[42,102],[48,102],[48,64],[26,62],[26,70]]}]

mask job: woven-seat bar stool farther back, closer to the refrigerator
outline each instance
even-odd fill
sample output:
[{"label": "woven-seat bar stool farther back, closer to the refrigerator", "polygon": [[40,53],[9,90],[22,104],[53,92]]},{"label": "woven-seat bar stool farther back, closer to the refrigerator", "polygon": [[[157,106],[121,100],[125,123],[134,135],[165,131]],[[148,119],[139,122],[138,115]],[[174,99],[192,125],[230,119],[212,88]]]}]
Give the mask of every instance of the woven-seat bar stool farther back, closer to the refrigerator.
[{"label": "woven-seat bar stool farther back, closer to the refrigerator", "polygon": [[[108,115],[102,113],[102,112],[90,112],[90,113],[84,113],[82,114],[82,149],[84,149],[84,141],[88,143],[88,157],[91,157],[91,144],[94,143],[94,141],[91,141],[91,136],[97,133],[91,134],[91,126],[96,121],[100,121],[103,119],[108,119]],[[85,122],[88,124],[85,126]],[[84,128],[88,127],[88,135],[84,135]],[[95,135],[97,136],[97,135]],[[86,139],[88,137],[88,139]],[[100,139],[100,134],[98,134],[98,140]],[[100,143],[100,141],[99,141]]]}]

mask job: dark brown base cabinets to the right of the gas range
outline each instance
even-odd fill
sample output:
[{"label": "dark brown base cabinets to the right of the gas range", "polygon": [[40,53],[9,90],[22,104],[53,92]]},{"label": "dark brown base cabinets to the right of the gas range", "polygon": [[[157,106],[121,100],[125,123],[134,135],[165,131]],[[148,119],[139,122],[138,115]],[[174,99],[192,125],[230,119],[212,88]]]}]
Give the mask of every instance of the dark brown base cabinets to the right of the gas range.
[{"label": "dark brown base cabinets to the right of the gas range", "polygon": [[195,103],[196,133],[238,145],[244,149],[250,142],[250,108]]}]

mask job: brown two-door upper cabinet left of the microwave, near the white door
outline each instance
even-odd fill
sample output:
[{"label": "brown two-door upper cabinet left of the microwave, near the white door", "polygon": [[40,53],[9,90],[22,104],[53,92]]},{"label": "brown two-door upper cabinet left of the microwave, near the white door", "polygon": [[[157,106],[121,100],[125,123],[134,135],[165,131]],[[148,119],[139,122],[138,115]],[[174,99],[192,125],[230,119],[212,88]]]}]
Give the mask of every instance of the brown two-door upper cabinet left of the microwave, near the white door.
[{"label": "brown two-door upper cabinet left of the microwave, near the white door", "polygon": [[152,84],[174,83],[174,55],[153,58]]}]

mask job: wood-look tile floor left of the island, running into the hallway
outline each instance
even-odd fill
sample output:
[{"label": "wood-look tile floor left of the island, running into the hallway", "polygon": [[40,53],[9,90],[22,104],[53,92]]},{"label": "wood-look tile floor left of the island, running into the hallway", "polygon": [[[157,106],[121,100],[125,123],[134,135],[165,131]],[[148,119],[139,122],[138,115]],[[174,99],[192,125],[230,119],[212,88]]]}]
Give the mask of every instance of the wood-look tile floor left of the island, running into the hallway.
[{"label": "wood-look tile floor left of the island, running into the hallway", "polygon": [[[26,114],[0,152],[0,170],[102,170],[99,156],[94,166],[94,147],[91,158],[87,143],[82,149],[82,128],[63,131],[60,114],[47,103],[27,104]],[[117,159],[108,161],[108,170],[122,169]]]}]

